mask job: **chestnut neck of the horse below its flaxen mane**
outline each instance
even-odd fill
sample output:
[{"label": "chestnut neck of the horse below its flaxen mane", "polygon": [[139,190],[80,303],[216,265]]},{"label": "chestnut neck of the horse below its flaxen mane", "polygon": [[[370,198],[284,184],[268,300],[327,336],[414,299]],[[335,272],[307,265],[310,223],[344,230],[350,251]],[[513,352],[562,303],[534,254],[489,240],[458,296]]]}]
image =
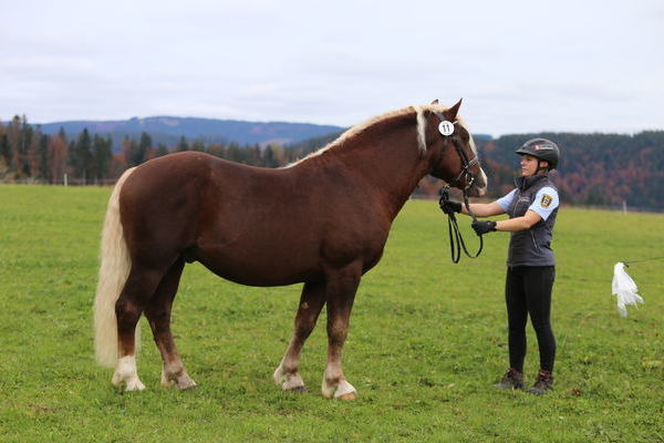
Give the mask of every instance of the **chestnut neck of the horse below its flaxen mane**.
[{"label": "chestnut neck of the horse below its flaxen mane", "polygon": [[383,122],[380,127],[367,127],[345,143],[346,146],[339,146],[330,154],[369,182],[381,194],[381,204],[392,218],[396,217],[428,172],[417,143],[415,114]]}]

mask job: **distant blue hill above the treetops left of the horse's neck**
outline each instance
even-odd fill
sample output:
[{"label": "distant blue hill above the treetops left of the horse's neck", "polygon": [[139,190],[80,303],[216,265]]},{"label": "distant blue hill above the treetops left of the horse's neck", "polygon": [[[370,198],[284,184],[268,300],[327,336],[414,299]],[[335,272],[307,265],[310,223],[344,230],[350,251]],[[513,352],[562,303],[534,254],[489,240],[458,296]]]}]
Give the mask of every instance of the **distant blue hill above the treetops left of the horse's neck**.
[{"label": "distant blue hill above the treetops left of the horse's neck", "polygon": [[141,133],[151,135],[155,144],[175,146],[181,136],[200,140],[204,143],[231,142],[240,145],[269,143],[293,144],[301,141],[339,133],[343,128],[333,125],[287,122],[242,122],[235,120],[212,120],[196,117],[154,116],[121,121],[74,121],[41,124],[41,132],[54,134],[64,128],[69,137],[75,137],[84,128],[91,134],[110,135],[114,148],[125,138],[138,140]]}]

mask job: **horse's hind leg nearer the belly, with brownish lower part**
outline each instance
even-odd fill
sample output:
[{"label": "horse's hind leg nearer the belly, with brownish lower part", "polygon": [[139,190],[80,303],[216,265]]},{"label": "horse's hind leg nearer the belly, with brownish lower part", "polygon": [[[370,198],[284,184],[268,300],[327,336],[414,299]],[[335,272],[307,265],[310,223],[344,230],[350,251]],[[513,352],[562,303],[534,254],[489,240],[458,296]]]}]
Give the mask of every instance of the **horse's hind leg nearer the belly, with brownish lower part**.
[{"label": "horse's hind leg nearer the belly, with brownish lower part", "polygon": [[180,390],[196,385],[196,382],[191,380],[185,370],[170,332],[170,310],[184,266],[184,260],[179,259],[170,267],[145,308],[145,317],[149,322],[155,343],[164,361],[162,384],[169,387],[174,383]]}]

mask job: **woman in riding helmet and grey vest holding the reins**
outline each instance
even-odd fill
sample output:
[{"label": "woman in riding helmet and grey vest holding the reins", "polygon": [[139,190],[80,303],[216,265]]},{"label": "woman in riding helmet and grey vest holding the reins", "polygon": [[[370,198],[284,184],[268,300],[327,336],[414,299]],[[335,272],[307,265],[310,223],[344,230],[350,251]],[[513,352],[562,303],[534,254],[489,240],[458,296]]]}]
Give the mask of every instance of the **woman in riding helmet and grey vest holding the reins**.
[{"label": "woman in riding helmet and grey vest holding the reins", "polygon": [[[521,176],[515,181],[516,189],[492,203],[470,204],[470,210],[478,217],[509,215],[506,220],[473,223],[477,235],[511,231],[505,285],[510,368],[495,387],[523,388],[526,322],[530,315],[539,344],[540,370],[528,392],[541,395],[552,389],[556,358],[556,338],[550,322],[551,288],[556,278],[551,237],[559,200],[549,171],[558,166],[560,151],[549,140],[533,138],[516,153],[521,155]],[[444,206],[445,213],[468,214],[457,202]]]}]

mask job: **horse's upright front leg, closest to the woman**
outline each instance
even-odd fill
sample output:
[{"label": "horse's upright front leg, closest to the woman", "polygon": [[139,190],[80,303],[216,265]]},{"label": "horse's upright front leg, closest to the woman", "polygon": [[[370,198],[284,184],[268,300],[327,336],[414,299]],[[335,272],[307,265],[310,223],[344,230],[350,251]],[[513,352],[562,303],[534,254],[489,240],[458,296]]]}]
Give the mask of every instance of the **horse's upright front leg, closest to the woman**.
[{"label": "horse's upright front leg, closest to the woman", "polygon": [[328,399],[354,400],[357,391],[349,383],[341,369],[341,351],[349,331],[355,292],[362,276],[362,265],[354,264],[328,276],[328,365],[323,374],[322,392]]}]

